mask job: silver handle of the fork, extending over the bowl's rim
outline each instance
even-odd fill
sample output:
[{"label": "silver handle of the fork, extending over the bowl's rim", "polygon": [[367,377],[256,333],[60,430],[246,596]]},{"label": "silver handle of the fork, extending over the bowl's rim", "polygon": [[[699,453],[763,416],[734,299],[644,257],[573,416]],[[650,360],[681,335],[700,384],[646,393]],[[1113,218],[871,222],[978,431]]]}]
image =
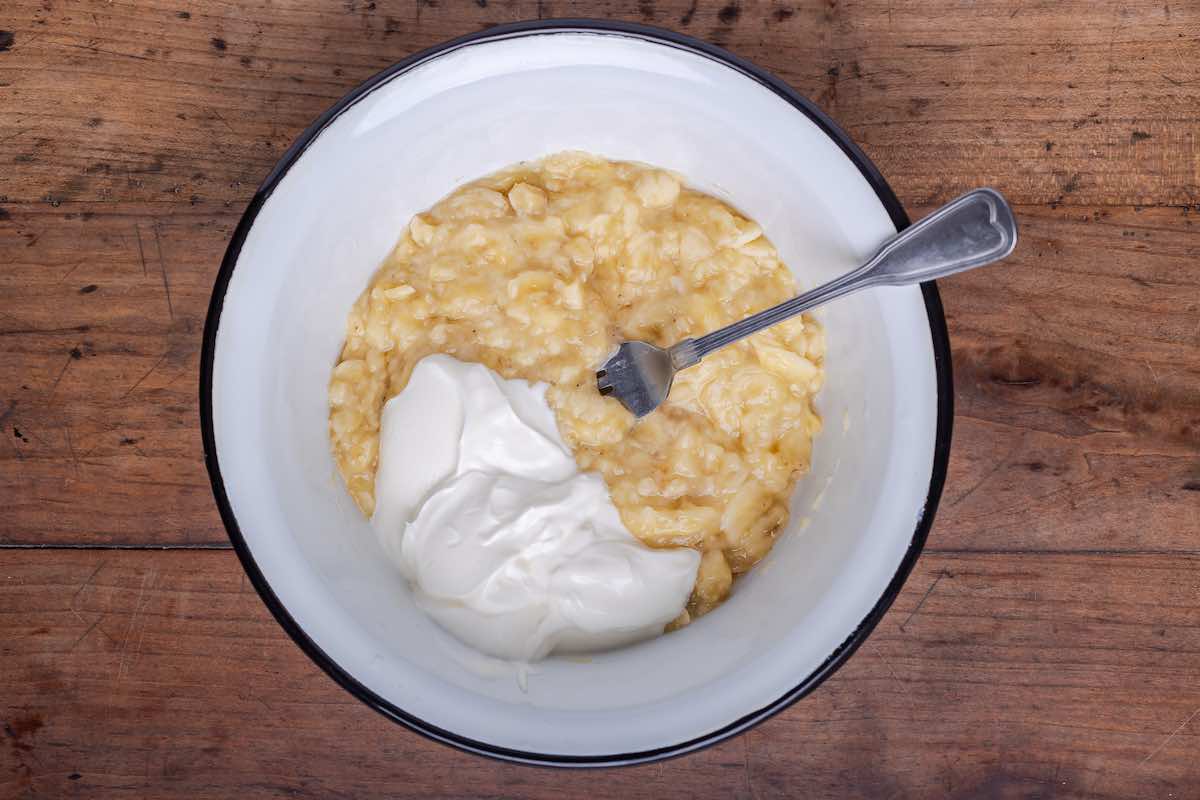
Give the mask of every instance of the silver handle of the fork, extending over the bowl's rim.
[{"label": "silver handle of the fork, extending over the bowl's rim", "polygon": [[757,333],[785,319],[877,285],[907,285],[944,278],[997,261],[1016,246],[1013,210],[991,188],[977,188],[889,239],[866,264],[810,291],[760,311],[698,338],[671,348],[677,369],[690,367],[713,350]]}]

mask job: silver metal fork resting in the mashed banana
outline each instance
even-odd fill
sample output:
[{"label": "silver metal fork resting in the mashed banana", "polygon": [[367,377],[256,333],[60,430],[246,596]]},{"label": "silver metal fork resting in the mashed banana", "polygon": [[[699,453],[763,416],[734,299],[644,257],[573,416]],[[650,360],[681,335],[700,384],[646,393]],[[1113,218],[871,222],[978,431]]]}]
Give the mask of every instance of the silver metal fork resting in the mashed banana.
[{"label": "silver metal fork resting in the mashed banana", "polygon": [[667,349],[625,342],[596,372],[596,386],[646,416],[667,398],[677,372],[713,350],[852,291],[944,278],[997,261],[1015,246],[1013,210],[1000,192],[977,188],[889,239],[863,266],[811,291]]}]

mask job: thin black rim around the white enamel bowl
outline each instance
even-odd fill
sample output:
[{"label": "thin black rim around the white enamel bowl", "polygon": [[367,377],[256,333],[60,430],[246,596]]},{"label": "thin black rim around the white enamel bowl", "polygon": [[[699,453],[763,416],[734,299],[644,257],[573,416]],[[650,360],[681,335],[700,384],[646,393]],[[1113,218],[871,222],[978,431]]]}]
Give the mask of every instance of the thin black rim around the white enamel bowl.
[{"label": "thin black rim around the white enamel bowl", "polygon": [[883,180],[880,170],[876,169],[875,164],[871,163],[863,151],[859,150],[859,148],[840,127],[833,122],[833,120],[826,116],[826,114],[809,100],[798,95],[782,80],[750,64],[749,61],[733,55],[732,53],[690,36],[683,36],[665,29],[650,28],[648,25],[638,25],[634,23],[598,19],[545,19],[490,28],[478,34],[461,36],[421,53],[410,55],[409,58],[398,61],[359,85],[335,103],[329,110],[322,114],[317,121],[313,122],[295,140],[295,143],[292,144],[280,162],[266,176],[266,180],[263,181],[263,185],[258,188],[253,199],[250,201],[241,221],[238,223],[238,228],[234,230],[233,239],[229,242],[224,259],[221,263],[221,271],[217,273],[217,279],[212,288],[212,299],[209,302],[208,319],[204,324],[204,343],[200,355],[200,428],[204,438],[204,461],[209,470],[209,479],[212,482],[212,494],[216,498],[217,507],[221,512],[221,519],[224,522],[224,527],[229,534],[229,540],[233,542],[234,551],[236,551],[238,558],[241,560],[246,573],[254,584],[254,589],[258,590],[263,602],[266,603],[266,607],[275,615],[275,619],[281,626],[283,626],[283,630],[288,632],[300,649],[304,650],[318,667],[324,669],[325,673],[328,673],[329,676],[337,681],[343,688],[388,718],[398,722],[400,724],[430,739],[451,745],[467,752],[508,762],[552,766],[617,766],[643,764],[647,762],[682,756],[684,753],[714,745],[719,741],[724,741],[725,739],[751,728],[772,715],[778,714],[815,690],[829,675],[836,672],[836,669],[845,663],[854,650],[858,649],[858,646],[875,628],[875,625],[883,616],[884,612],[887,612],[888,607],[892,606],[892,601],[895,600],[895,596],[900,593],[905,579],[912,571],[913,564],[924,547],[925,537],[929,535],[929,529],[934,523],[937,503],[942,495],[942,486],[946,482],[946,469],[950,450],[950,427],[954,415],[953,385],[950,378],[950,347],[949,337],[946,331],[946,318],[942,313],[942,301],[934,283],[930,282],[922,284],[922,294],[925,300],[925,312],[929,318],[929,331],[932,339],[934,365],[937,380],[937,434],[934,445],[934,467],[929,480],[929,493],[925,498],[925,506],[920,516],[920,521],[917,523],[917,528],[913,530],[912,540],[908,542],[908,549],[905,553],[904,559],[900,561],[900,566],[896,569],[892,581],[884,589],[883,595],[880,597],[878,602],[876,602],[871,612],[858,624],[858,627],[854,628],[854,631],[841,643],[841,645],[839,645],[838,649],[834,650],[815,672],[800,680],[794,688],[786,692],[782,697],[702,736],[654,750],[643,750],[631,753],[614,753],[607,756],[563,756],[553,753],[523,752],[508,747],[498,747],[496,745],[475,741],[430,724],[428,722],[408,714],[394,703],[385,700],[383,697],[360,684],[354,676],[342,669],[342,667],[338,666],[334,658],[322,650],[307,633],[305,633],[304,628],[300,627],[295,619],[293,619],[288,613],[287,608],[283,607],[283,603],[280,602],[280,599],[271,590],[271,587],[263,576],[263,572],[254,563],[254,557],[251,554],[250,547],[246,545],[246,540],[238,527],[238,521],[229,505],[229,498],[226,494],[224,482],[221,479],[221,467],[217,463],[216,438],[212,425],[212,367],[216,355],[217,327],[221,323],[221,309],[224,305],[224,295],[226,289],[229,285],[229,278],[233,276],[233,271],[236,265],[238,257],[241,253],[241,247],[246,240],[246,235],[250,233],[250,229],[254,223],[254,218],[262,210],[263,204],[271,196],[275,187],[278,186],[288,169],[290,169],[300,156],[304,155],[304,151],[313,142],[313,139],[316,139],[326,126],[329,126],[354,103],[359,102],[379,86],[412,70],[419,64],[444,55],[451,50],[481,42],[520,36],[538,36],[563,32],[608,34],[647,40],[658,44],[666,44],[703,55],[754,79],[758,84],[770,89],[782,100],[787,101],[796,108],[796,110],[808,116],[826,133],[826,136],[833,139],[838,146],[841,148],[842,152],[845,152],[854,166],[858,167],[863,178],[865,178],[866,182],[870,184],[875,194],[878,197],[880,203],[883,204],[883,207],[887,210],[888,216],[892,218],[892,222],[895,224],[898,230],[908,225],[908,217],[905,213],[904,207],[900,205],[900,201],[896,199],[895,193],[893,193],[887,181]]}]

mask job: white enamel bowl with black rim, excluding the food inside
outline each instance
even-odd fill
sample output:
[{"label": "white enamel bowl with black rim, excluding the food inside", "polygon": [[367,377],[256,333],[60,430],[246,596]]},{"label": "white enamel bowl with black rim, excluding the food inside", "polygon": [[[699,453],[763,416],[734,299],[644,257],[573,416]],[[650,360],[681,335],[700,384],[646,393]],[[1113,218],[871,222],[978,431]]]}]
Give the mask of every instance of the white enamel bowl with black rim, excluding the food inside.
[{"label": "white enamel bowl with black rim, excluding the food inside", "polygon": [[670,636],[587,661],[552,657],[527,691],[509,674],[481,674],[414,607],[337,479],[326,385],[350,303],[414,212],[463,181],[566,149],[682,173],[758,221],[806,287],[907,224],[845,133],[715,47],[590,20],[455,40],[350,92],[254,197],[209,311],[204,446],[254,587],[352,693],[478,753],[635,763],[763,720],[866,637],[941,494],[949,349],[932,284],[829,306],[812,471],[787,530],[730,600]]}]

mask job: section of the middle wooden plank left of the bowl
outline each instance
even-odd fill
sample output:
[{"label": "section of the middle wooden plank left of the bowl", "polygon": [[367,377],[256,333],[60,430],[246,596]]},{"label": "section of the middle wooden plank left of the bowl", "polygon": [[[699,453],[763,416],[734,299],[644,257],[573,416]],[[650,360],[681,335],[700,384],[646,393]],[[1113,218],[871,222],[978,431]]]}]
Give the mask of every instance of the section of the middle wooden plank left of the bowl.
[{"label": "section of the middle wooden plank left of the bowl", "polygon": [[0,222],[0,542],[223,542],[197,397],[236,218],[92,207]]}]

